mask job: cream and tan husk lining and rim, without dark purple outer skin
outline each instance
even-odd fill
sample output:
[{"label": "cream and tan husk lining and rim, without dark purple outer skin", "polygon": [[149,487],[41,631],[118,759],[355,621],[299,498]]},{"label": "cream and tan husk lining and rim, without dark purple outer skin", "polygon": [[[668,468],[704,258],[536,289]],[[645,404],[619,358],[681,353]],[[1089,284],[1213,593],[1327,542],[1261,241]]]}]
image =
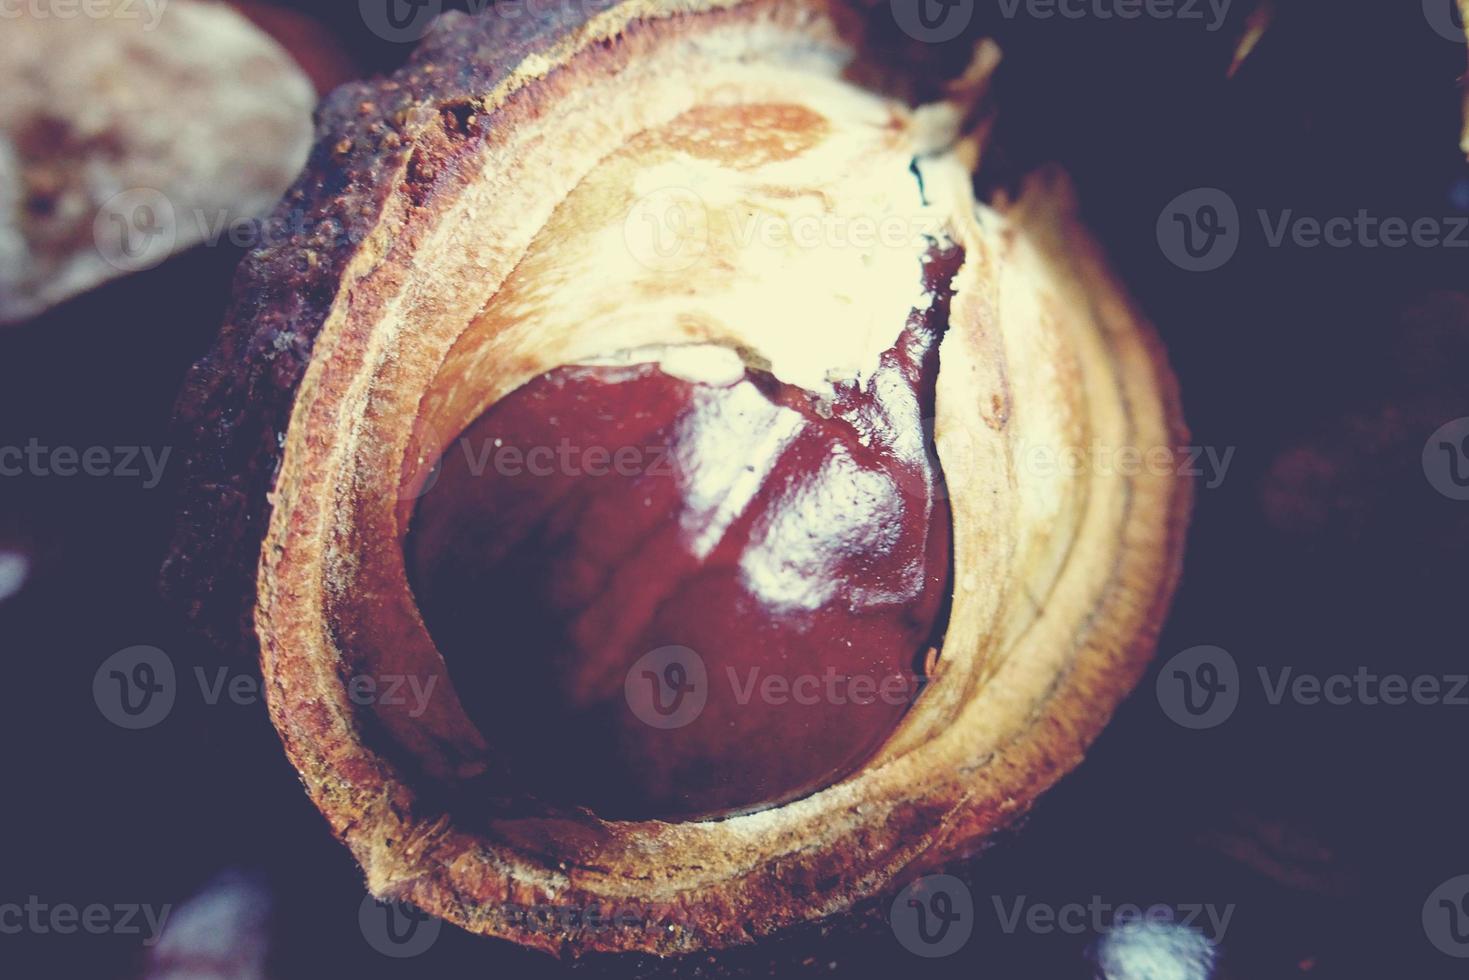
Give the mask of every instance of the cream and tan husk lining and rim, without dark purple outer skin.
[{"label": "cream and tan husk lining and rim, without dark purple outer skin", "polygon": [[[737,927],[755,879],[792,889],[759,929],[826,914],[925,848],[1002,823],[1074,763],[1136,673],[1130,648],[1150,610],[1127,598],[1127,579],[1152,573],[1124,552],[1155,563],[1166,533],[1130,514],[1138,497],[1166,510],[1172,482],[1043,464],[1071,447],[1169,445],[1130,310],[1056,264],[1069,220],[1059,194],[1036,195],[1056,210],[975,207],[965,167],[934,143],[945,126],[840,81],[851,50],[801,6],[765,4],[707,32],[642,26],[617,71],[538,79],[535,100],[504,106],[445,210],[400,201],[344,284],[286,438],[257,621],[288,745],[311,757],[311,726],[353,745],[303,770],[375,890],[444,905],[448,889],[452,917],[492,933],[504,926],[486,904],[536,896],[705,902]],[[928,154],[927,207],[908,172],[915,154]],[[818,247],[773,247],[761,226],[748,239],[748,210],[777,232],[834,215],[846,234],[902,225],[914,238],[830,247],[821,231]],[[360,745],[341,677],[442,673],[401,554],[436,450],[530,378],[633,348],[715,344],[812,388],[861,375],[927,301],[915,242],[936,228],[968,256],[936,420],[958,576],[939,670],[878,758],[808,799],[726,821],[485,829],[419,813],[404,773]],[[1084,242],[1071,247],[1090,262]],[[411,263],[392,262],[397,250]],[[325,554],[304,544],[313,536]],[[310,641],[286,649],[282,635]],[[477,771],[461,713],[378,716],[430,773]],[[1027,758],[1031,726],[1046,742]],[[859,854],[821,852],[843,836]],[[823,868],[840,889],[809,884]]]}]

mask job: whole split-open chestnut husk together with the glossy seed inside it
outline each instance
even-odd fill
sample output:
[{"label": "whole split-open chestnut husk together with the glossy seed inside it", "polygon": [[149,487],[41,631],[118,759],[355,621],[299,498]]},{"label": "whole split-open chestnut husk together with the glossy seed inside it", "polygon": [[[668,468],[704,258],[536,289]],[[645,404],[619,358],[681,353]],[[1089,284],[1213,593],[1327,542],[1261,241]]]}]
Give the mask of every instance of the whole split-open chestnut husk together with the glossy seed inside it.
[{"label": "whole split-open chestnut husk together with the glossy seed inside it", "polygon": [[326,100],[311,234],[245,260],[179,401],[166,583],[259,652],[375,895],[679,954],[971,854],[1081,761],[1191,495],[1058,458],[1187,432],[1065,176],[977,192],[992,43],[593,7],[445,15]]}]

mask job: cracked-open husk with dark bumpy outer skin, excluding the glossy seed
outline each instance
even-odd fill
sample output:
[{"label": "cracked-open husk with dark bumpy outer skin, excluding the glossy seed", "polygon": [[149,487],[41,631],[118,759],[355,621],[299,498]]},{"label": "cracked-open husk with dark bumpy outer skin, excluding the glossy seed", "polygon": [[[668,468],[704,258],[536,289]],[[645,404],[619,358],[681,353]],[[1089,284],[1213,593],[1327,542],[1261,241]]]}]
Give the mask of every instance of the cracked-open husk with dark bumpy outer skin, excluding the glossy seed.
[{"label": "cracked-open husk with dark bumpy outer skin, excluding the glossy seed", "polygon": [[[244,624],[259,645],[286,752],[375,893],[552,952],[729,946],[971,852],[1081,760],[1178,576],[1190,489],[1166,460],[1185,432],[1066,179],[974,200],[992,46],[946,84],[867,4],[557,10],[448,16],[400,75],[328,101],[282,206],[310,234],[245,263],[181,403],[167,577],[217,636]],[[905,263],[927,242],[864,259],[685,226],[692,248],[648,251],[632,219],[658,194],[714,220],[757,197],[782,222],[805,201],[848,222],[899,209],[964,247],[934,425],[955,548],[943,655],[877,757],[796,802],[685,823],[458,813],[444,788],[482,773],[485,745],[457,699],[408,717],[342,682],[452,691],[403,558],[447,439],[549,369],[633,348],[718,344],[821,385],[861,372],[915,303]],[[798,319],[789,269],[809,294]],[[839,329],[843,307],[862,329]],[[1096,447],[1155,464],[1056,463]],[[530,905],[657,927],[546,930],[514,911]]]}]

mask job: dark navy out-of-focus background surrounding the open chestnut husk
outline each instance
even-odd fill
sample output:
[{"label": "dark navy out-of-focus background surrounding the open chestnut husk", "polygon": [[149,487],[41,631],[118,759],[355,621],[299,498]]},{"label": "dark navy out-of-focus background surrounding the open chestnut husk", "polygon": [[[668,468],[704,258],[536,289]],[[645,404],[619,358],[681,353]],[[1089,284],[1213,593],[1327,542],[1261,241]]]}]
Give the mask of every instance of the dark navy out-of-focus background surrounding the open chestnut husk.
[{"label": "dark navy out-of-focus background surrounding the open chestnut husk", "polygon": [[[1440,425],[1469,416],[1469,250],[1271,248],[1253,219],[1469,213],[1465,48],[1431,29],[1418,0],[1282,1],[1227,79],[1238,6],[1213,34],[1156,19],[996,25],[1009,154],[995,179],[1040,160],[1072,172],[1163,334],[1194,442],[1235,450],[1222,485],[1199,488],[1159,663],[1224,646],[1253,693],[1225,724],[1190,732],[1144,682],[1028,823],[958,868],[980,908],[964,951],[915,958],[871,908],[677,964],[567,967],[448,926],[420,956],[375,952],[357,921],[361,877],[264,707],[198,696],[195,666],[250,666],[191,638],[157,598],[172,483],[125,478],[0,478],[0,551],[31,561],[22,591],[0,601],[0,902],[181,905],[242,870],[269,895],[270,976],[288,979],[1099,970],[1094,934],[1003,934],[992,895],[1232,904],[1221,977],[1465,976],[1421,915],[1438,884],[1469,874],[1469,708],[1271,705],[1250,683],[1257,666],[1469,673],[1469,502],[1440,495],[1419,461]],[[363,72],[407,54],[375,38],[357,4],[316,16]],[[1165,204],[1196,187],[1225,190],[1247,226],[1210,273],[1175,267],[1155,237]],[[213,338],[238,259],[198,248],[0,332],[0,445],[169,445],[173,397]],[[138,644],[167,651],[181,695],[165,723],[125,732],[98,713],[91,680]],[[1153,948],[1111,976],[1209,976],[1144,970],[1168,955]],[[6,961],[19,964],[6,976],[145,970],[123,936],[0,936]]]}]

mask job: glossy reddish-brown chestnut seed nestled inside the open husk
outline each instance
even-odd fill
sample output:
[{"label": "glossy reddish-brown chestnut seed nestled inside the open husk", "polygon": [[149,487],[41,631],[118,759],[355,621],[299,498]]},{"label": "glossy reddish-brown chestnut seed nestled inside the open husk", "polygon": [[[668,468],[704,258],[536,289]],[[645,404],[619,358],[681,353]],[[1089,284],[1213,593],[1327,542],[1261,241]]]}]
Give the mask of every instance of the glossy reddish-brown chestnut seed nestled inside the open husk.
[{"label": "glossy reddish-brown chestnut seed nestled inside the open husk", "polygon": [[729,350],[668,351],[542,375],[450,447],[410,576],[532,792],[724,815],[815,792],[887,739],[949,597],[925,423],[961,264],[927,256],[933,303],[834,397]]}]

